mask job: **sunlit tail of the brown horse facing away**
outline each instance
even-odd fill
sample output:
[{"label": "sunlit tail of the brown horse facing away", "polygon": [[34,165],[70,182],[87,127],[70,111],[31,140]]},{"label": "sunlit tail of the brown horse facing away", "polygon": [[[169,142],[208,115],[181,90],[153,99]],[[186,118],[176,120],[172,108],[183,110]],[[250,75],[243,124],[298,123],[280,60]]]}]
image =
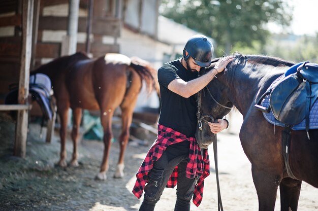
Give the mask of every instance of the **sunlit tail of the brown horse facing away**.
[{"label": "sunlit tail of the brown horse facing away", "polygon": [[157,71],[150,63],[141,58],[132,57],[130,66],[135,69],[142,81],[145,82],[148,93],[150,94],[155,89],[158,96],[160,96]]}]

